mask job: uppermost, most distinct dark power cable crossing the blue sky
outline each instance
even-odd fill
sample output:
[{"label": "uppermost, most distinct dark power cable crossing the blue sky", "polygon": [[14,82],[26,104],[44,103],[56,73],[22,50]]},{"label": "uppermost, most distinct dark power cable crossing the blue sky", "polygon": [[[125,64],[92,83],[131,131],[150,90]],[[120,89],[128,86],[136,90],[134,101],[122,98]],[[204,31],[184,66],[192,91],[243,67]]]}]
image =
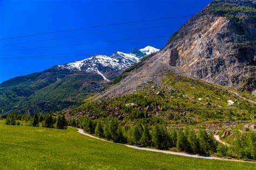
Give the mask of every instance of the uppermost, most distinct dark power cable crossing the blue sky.
[{"label": "uppermost, most distinct dark power cable crossing the blue sky", "polygon": [[108,26],[117,26],[117,25],[126,25],[126,24],[145,23],[145,22],[153,22],[153,21],[157,21],[157,20],[169,20],[169,19],[185,18],[185,17],[192,17],[192,16],[194,16],[194,15],[176,16],[176,17],[166,17],[166,18],[156,18],[156,19],[145,19],[145,20],[137,20],[137,21],[132,21],[132,22],[123,22],[123,23],[106,24],[106,25],[98,25],[98,26],[88,26],[88,27],[81,27],[81,28],[78,28],[78,29],[69,29],[69,30],[61,30],[61,31],[42,32],[42,33],[37,33],[37,34],[28,34],[28,35],[24,35],[24,36],[7,37],[7,38],[1,38],[0,40],[15,39],[15,38],[24,38],[24,37],[32,37],[32,36],[39,36],[39,35],[45,35],[45,34],[69,32],[69,31],[96,29],[96,28],[108,27]]}]

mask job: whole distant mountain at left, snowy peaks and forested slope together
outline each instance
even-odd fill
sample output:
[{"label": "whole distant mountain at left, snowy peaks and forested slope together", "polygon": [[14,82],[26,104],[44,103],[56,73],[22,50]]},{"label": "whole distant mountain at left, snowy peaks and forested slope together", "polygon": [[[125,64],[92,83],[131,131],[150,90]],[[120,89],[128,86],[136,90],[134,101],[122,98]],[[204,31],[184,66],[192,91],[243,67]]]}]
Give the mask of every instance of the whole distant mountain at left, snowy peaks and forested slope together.
[{"label": "whole distant mountain at left, snowy peaks and forested slope together", "polygon": [[53,112],[82,104],[86,97],[104,90],[110,80],[141,60],[146,52],[158,51],[149,47],[145,52],[133,50],[137,54],[94,55],[5,81],[0,84],[0,114]]}]

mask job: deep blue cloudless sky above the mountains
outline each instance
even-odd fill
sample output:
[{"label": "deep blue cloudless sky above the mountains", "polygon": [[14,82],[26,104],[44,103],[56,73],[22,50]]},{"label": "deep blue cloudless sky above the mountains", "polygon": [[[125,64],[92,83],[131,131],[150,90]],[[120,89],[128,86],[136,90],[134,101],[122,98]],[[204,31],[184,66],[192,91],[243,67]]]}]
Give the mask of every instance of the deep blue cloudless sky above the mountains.
[{"label": "deep blue cloudless sky above the mountains", "polygon": [[[87,26],[194,15],[209,2],[0,0],[0,39]],[[116,51],[127,53],[133,48],[147,45],[162,48],[171,34],[188,19],[190,17],[0,40],[0,82],[89,58],[93,54],[110,55]],[[47,47],[71,44],[83,45]]]}]

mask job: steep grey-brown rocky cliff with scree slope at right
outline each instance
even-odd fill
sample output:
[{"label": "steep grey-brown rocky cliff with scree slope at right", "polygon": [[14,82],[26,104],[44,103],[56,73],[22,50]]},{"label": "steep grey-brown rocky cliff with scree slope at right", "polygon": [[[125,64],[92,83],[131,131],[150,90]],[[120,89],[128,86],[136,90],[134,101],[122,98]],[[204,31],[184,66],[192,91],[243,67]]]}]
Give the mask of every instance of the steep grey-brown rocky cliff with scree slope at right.
[{"label": "steep grey-brown rocky cliff with scree slope at right", "polygon": [[[171,71],[239,90],[256,89],[256,4],[214,1],[103,96],[131,93]],[[124,90],[119,90],[123,89]],[[117,92],[117,93],[116,93]]]}]

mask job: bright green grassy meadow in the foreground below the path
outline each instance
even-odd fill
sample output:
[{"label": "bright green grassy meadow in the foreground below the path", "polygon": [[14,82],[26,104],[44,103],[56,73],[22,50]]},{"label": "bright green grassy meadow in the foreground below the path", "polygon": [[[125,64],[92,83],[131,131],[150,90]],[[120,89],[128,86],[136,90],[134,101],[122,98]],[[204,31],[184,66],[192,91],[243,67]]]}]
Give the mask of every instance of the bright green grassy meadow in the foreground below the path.
[{"label": "bright green grassy meadow in the foreground below the path", "polygon": [[68,130],[4,125],[0,169],[255,169],[255,164],[139,151]]}]

